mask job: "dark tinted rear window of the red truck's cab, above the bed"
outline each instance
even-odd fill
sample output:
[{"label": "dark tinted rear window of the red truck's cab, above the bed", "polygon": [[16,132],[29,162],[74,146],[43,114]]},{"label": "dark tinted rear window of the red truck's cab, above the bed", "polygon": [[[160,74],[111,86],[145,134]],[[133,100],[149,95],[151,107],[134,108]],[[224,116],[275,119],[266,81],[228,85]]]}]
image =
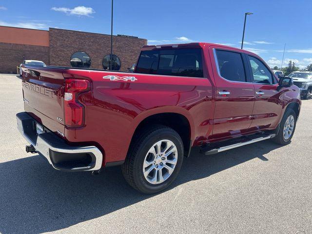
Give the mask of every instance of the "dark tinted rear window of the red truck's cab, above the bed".
[{"label": "dark tinted rear window of the red truck's cab, above the bed", "polygon": [[142,51],[137,62],[136,72],[202,78],[202,49]]}]

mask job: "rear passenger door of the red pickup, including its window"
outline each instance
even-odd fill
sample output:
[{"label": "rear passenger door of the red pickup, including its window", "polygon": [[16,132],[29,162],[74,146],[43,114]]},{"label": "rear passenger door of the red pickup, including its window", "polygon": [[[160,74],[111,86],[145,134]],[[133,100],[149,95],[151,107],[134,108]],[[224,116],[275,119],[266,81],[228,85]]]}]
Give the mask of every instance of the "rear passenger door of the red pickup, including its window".
[{"label": "rear passenger door of the red pickup, including its window", "polygon": [[213,134],[209,138],[231,138],[248,132],[255,93],[247,76],[246,58],[239,50],[221,46],[211,47],[209,54],[216,87]]}]

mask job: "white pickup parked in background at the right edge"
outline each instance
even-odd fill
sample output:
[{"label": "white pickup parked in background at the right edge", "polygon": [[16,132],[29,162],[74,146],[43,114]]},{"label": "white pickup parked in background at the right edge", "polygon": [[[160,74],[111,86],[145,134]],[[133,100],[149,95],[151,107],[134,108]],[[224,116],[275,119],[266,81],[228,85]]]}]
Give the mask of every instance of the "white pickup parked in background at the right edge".
[{"label": "white pickup parked in background at the right edge", "polygon": [[293,84],[300,89],[303,99],[308,99],[312,95],[312,72],[292,72],[288,75],[293,79]]}]

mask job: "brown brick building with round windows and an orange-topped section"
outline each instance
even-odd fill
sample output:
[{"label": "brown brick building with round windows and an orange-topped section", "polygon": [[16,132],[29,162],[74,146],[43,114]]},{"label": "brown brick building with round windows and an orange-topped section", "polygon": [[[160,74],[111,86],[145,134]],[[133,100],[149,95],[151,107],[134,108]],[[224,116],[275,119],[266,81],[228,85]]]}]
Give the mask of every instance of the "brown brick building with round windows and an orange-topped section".
[{"label": "brown brick building with round windows and an orange-topped section", "polygon": [[[113,36],[113,69],[127,71],[146,44],[146,39]],[[25,59],[52,66],[108,69],[110,53],[111,36],[106,34],[0,26],[0,73],[16,73]]]}]

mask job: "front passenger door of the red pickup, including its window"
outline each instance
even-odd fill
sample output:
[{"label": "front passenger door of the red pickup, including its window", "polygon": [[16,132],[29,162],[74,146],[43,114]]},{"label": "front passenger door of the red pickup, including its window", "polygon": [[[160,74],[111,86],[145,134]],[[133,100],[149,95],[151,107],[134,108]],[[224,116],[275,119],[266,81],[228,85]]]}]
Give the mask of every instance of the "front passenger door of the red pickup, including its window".
[{"label": "front passenger door of the red pickup, including its window", "polygon": [[260,59],[246,55],[246,60],[255,89],[251,128],[256,130],[275,128],[282,112],[282,103],[279,100],[281,93],[277,91],[277,80],[271,69]]}]

